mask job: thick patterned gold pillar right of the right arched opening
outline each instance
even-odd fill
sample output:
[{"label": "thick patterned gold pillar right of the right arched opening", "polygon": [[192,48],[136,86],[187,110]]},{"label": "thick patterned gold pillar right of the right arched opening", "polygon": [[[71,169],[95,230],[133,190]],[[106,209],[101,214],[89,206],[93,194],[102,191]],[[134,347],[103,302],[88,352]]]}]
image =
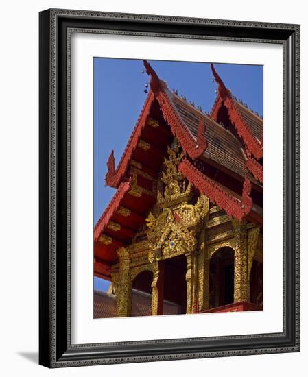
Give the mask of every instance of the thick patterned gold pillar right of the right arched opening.
[{"label": "thick patterned gold pillar right of the right arched opening", "polygon": [[248,273],[248,233],[246,223],[233,220],[234,227],[234,302],[250,302]]}]

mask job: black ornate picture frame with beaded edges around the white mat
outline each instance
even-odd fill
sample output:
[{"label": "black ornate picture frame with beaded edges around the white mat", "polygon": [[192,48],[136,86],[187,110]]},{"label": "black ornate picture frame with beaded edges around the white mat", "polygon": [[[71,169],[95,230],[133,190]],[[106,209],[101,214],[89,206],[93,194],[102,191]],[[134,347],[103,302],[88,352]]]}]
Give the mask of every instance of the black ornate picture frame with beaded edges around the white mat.
[{"label": "black ornate picture frame with beaded edges around the white mat", "polygon": [[[300,350],[300,25],[171,16],[40,12],[39,363],[70,367]],[[283,332],[71,344],[69,29],[166,34],[283,45]],[[104,342],[104,339],[102,339]]]}]

